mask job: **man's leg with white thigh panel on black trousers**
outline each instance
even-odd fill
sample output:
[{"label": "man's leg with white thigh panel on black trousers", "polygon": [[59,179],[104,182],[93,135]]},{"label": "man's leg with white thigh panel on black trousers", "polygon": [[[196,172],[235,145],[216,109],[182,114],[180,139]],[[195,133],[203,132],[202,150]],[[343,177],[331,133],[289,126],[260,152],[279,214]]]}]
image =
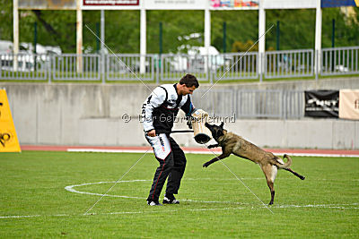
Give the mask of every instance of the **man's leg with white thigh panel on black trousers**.
[{"label": "man's leg with white thigh panel on black trousers", "polygon": [[160,163],[160,166],[157,167],[156,172],[154,173],[153,184],[147,201],[157,202],[162,192],[163,184],[171,173],[171,168],[173,167],[173,153],[171,152],[170,141],[164,133],[161,133],[156,137],[146,136],[146,139],[153,147],[154,155]]}]

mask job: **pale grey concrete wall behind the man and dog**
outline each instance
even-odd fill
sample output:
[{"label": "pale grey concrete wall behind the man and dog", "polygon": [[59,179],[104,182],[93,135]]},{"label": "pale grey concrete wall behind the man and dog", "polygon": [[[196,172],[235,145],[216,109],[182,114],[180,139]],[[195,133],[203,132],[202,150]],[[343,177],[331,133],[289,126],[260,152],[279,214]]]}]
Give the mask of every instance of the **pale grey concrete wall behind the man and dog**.
[{"label": "pale grey concrete wall behind the man and dog", "polygon": [[[138,114],[144,98],[155,85],[149,84],[148,87],[141,83],[0,83],[0,88],[7,91],[21,144],[50,145],[146,145]],[[201,84],[200,87],[208,89],[210,85]],[[359,78],[216,84],[214,88],[359,89]],[[131,117],[129,122],[128,117]],[[187,129],[187,126],[182,122],[175,128]],[[359,149],[358,121],[311,118],[236,120],[226,124],[226,128],[261,147]],[[192,133],[173,137],[182,145],[198,146]]]}]

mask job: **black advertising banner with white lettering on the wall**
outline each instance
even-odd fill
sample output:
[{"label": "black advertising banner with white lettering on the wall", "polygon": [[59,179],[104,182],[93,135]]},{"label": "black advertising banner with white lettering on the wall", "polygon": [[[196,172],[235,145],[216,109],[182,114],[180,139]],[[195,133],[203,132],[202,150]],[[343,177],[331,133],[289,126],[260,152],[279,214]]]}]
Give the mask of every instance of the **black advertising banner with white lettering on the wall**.
[{"label": "black advertising banner with white lettering on the wall", "polygon": [[339,115],[339,90],[307,90],[305,93],[305,116],[331,117]]}]

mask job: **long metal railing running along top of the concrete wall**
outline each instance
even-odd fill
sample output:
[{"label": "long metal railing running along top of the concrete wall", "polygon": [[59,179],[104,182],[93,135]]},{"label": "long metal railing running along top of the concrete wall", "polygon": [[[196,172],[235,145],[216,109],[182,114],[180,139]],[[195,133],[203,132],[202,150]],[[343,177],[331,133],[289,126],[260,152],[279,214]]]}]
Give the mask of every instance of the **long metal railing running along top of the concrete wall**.
[{"label": "long metal railing running along top of the concrete wall", "polygon": [[[312,49],[219,55],[33,55],[0,54],[0,80],[178,81],[192,73],[199,81],[232,81],[357,74],[359,47],[323,48],[315,71]],[[263,71],[258,69],[259,63]]]}]

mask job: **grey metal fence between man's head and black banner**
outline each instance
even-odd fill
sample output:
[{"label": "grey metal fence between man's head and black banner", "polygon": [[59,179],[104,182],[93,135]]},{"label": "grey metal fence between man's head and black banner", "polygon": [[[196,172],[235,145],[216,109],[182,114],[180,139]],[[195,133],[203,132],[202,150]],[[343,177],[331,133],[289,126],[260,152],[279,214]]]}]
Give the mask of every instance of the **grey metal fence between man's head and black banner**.
[{"label": "grey metal fence between man's head and black banner", "polygon": [[304,116],[304,93],[299,90],[197,91],[196,107],[210,115],[235,118],[299,119]]}]

